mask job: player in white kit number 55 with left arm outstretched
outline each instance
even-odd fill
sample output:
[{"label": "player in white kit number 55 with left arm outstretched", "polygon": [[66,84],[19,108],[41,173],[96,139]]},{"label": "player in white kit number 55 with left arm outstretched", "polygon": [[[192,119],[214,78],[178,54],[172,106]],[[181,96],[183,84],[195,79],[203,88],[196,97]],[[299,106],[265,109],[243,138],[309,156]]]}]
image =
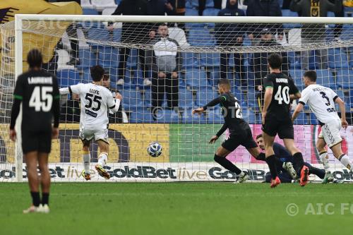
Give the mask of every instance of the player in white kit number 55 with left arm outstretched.
[{"label": "player in white kit number 55 with left arm outstretched", "polygon": [[104,69],[101,66],[93,66],[90,68],[92,83],[79,83],[71,85],[68,88],[61,88],[60,94],[68,93],[80,96],[80,139],[83,143],[82,157],[85,170],[83,176],[86,180],[90,180],[90,140],[93,138],[100,147],[100,156],[95,169],[104,179],[110,176],[103,168],[107,164],[109,142],[108,142],[108,111],[117,112],[122,97],[119,93],[115,99],[107,88],[102,86]]}]

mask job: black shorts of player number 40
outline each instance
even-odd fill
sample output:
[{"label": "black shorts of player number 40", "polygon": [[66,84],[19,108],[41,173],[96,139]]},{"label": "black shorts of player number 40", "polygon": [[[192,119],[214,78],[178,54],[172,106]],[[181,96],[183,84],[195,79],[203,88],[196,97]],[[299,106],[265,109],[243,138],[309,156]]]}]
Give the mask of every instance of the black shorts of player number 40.
[{"label": "black shorts of player number 40", "polygon": [[265,125],[263,125],[262,129],[263,132],[270,136],[276,136],[278,134],[280,139],[294,140],[294,128],[291,119],[265,119]]}]

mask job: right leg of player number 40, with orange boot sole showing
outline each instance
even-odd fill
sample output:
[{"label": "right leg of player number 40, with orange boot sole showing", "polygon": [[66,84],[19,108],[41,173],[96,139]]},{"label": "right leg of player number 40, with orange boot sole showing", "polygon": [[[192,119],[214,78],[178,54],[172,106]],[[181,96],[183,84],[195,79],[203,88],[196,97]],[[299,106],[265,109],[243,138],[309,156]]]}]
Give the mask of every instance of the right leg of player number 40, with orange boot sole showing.
[{"label": "right leg of player number 40, with orange boot sole showing", "polygon": [[300,170],[300,186],[305,186],[309,181],[309,167],[304,165],[303,155],[301,151],[295,146],[294,139],[292,138],[284,138],[283,142],[285,143],[285,147],[293,156],[294,167],[297,171]]}]

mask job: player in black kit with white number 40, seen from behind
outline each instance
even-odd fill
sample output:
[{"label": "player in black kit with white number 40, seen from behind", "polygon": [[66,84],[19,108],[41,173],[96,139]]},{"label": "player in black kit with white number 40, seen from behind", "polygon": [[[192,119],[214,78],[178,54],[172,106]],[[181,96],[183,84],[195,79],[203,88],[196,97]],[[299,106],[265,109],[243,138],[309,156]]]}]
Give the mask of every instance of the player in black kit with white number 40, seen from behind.
[{"label": "player in black kit with white number 40, seen from behind", "polygon": [[305,186],[308,181],[309,168],[304,166],[303,155],[294,144],[294,128],[290,116],[290,102],[299,99],[301,94],[292,78],[281,73],[282,56],[270,54],[268,66],[270,74],[263,79],[265,97],[262,121],[266,162],[272,176],[271,187],[280,184],[275,165],[275,152],[273,152],[273,141],[277,134],[283,139],[285,147],[293,156],[294,167],[301,172],[300,185]]}]

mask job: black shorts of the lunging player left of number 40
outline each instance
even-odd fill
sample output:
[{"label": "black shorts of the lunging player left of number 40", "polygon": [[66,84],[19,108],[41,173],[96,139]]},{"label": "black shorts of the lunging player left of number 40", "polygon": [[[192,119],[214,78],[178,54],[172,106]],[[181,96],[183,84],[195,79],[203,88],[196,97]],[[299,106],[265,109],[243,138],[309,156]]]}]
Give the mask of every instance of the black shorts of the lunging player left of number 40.
[{"label": "black shorts of the lunging player left of number 40", "polygon": [[229,152],[233,152],[239,145],[246,147],[246,149],[258,147],[255,140],[253,140],[250,129],[246,130],[244,135],[229,135],[229,138],[222,143],[222,147]]}]

